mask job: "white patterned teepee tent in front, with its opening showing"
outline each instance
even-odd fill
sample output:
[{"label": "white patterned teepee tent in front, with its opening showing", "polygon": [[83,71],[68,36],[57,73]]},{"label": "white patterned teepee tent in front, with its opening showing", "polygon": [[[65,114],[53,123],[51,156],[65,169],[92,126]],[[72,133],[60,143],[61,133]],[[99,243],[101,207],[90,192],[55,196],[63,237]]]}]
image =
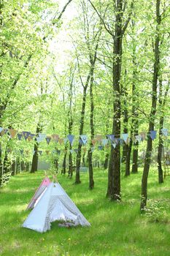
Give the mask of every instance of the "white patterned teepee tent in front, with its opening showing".
[{"label": "white patterned teepee tent in front, with its opening showing", "polygon": [[23,222],[22,227],[43,233],[50,230],[50,223],[55,220],[90,226],[90,223],[81,214],[61,185],[51,182],[39,202]]}]

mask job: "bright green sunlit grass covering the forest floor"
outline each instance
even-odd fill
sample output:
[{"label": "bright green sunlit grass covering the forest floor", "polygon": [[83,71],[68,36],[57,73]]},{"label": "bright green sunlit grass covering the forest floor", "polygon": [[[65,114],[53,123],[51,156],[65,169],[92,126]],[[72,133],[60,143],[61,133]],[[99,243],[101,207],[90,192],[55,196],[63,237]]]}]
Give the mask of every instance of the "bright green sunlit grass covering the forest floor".
[{"label": "bright green sunlit grass covering the forest floor", "polygon": [[121,203],[111,203],[105,197],[107,171],[95,170],[93,191],[88,190],[88,173],[82,173],[79,185],[58,175],[91,227],[67,229],[54,222],[47,233],[36,233],[20,226],[43,176],[43,172],[21,173],[1,189],[0,255],[170,255],[170,177],[158,184],[156,171],[150,170],[150,211],[143,216],[139,212],[142,172],[122,177]]}]

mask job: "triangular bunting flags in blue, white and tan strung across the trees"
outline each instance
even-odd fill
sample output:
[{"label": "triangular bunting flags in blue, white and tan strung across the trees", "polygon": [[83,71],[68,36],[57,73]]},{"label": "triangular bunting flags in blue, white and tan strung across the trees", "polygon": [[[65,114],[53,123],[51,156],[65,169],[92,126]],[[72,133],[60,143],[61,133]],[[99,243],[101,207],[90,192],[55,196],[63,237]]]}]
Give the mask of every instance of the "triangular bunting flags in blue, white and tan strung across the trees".
[{"label": "triangular bunting flags in blue, white and tan strung across the trees", "polygon": [[[47,142],[47,145],[50,144],[50,142],[53,140],[53,142],[58,143],[59,145],[66,145],[66,143],[70,143],[71,146],[73,146],[73,143],[77,141],[80,143],[82,146],[87,146],[88,142],[88,135],[67,135],[66,138],[61,138],[57,134],[52,134],[52,135],[46,135],[44,133],[32,133],[29,131],[22,131],[18,132],[17,129],[5,129],[3,127],[0,127],[0,136],[1,138],[7,135],[9,138],[18,138],[18,140],[26,140],[26,141],[31,141],[35,140],[37,143],[41,143],[42,141]],[[169,131],[166,128],[161,129],[161,135],[164,137],[164,139],[167,139],[169,137]],[[113,148],[116,148],[118,144],[123,145],[123,143],[127,144],[130,142],[130,140],[133,140],[135,143],[141,143],[144,140],[147,140],[147,138],[151,138],[152,140],[155,140],[157,137],[157,131],[153,130],[150,132],[139,132],[139,134],[134,135],[132,138],[128,135],[128,133],[121,133],[120,135],[95,135],[93,140],[91,140],[91,143],[93,146],[91,146],[91,151],[94,151],[95,149],[98,150],[103,150],[104,148],[109,147],[110,145],[113,146]],[[89,136],[90,138],[90,136]],[[98,145],[100,144],[100,145]],[[84,148],[84,150],[86,150]],[[70,149],[71,153],[77,153],[78,149]],[[28,151],[25,151],[26,154],[28,154]],[[35,154],[36,151],[34,151]],[[50,151],[45,151],[46,154],[50,154]],[[41,155],[42,151],[37,151],[37,154]],[[54,153],[54,152],[52,152]],[[55,152],[56,153],[56,152]],[[61,153],[61,151],[60,151]],[[57,154],[60,154],[59,150],[57,150]],[[23,151],[20,150],[20,154],[23,154]]]}]

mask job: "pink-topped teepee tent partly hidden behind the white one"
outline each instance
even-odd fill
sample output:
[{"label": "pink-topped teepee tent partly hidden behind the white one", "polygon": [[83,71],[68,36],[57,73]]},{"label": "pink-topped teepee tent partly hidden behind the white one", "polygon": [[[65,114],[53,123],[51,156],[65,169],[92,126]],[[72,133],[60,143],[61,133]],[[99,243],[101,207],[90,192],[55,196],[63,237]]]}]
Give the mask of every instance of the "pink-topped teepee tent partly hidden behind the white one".
[{"label": "pink-topped teepee tent partly hidden behind the white one", "polygon": [[50,178],[47,178],[47,176],[43,179],[42,183],[39,185],[38,189],[36,189],[36,192],[34,196],[31,198],[31,201],[28,203],[28,206],[26,209],[32,209],[34,206],[36,206],[36,203],[40,199],[40,197],[43,195],[43,192],[45,192],[45,189],[47,189],[48,185],[50,184]]}]

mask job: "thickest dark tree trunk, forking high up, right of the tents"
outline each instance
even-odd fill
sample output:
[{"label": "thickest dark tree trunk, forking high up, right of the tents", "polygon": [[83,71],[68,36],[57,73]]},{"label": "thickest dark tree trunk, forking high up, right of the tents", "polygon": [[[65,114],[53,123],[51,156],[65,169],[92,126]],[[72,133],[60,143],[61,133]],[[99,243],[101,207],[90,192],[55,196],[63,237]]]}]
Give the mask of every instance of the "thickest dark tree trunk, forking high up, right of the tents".
[{"label": "thickest dark tree trunk, forking high up, right of the tents", "polygon": [[[115,17],[115,37],[113,49],[113,65],[112,65],[112,83],[113,83],[113,124],[112,134],[120,136],[120,74],[122,59],[122,13],[123,1],[117,0],[117,10]],[[109,159],[108,171],[108,187],[107,196],[112,200],[120,200],[120,143],[113,148],[111,146],[111,154]]]}]

